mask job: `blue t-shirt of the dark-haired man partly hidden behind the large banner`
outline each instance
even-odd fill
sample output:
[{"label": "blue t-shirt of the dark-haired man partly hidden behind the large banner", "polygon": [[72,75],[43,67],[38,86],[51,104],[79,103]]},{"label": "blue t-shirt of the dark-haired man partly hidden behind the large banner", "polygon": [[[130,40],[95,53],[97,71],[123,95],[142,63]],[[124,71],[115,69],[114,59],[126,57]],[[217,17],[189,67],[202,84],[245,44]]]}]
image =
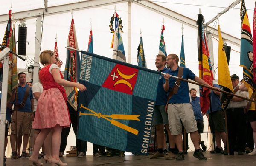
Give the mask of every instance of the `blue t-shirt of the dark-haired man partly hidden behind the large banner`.
[{"label": "blue t-shirt of the dark-haired man partly hidden behind the large banner", "polygon": [[[163,73],[169,73],[168,68],[160,70]],[[163,75],[159,76],[158,87],[157,87],[157,100],[155,105],[166,105],[167,103],[167,92],[163,89]]]}]

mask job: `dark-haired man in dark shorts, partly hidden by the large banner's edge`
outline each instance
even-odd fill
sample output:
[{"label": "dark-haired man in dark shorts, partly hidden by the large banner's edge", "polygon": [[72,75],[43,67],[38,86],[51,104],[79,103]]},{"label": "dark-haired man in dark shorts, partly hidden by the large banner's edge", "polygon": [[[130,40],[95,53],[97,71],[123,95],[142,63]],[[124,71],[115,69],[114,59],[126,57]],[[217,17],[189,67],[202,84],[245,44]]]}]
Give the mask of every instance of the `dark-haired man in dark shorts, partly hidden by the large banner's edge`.
[{"label": "dark-haired man in dark shorts, partly hidden by the large banner's edge", "polygon": [[[163,72],[163,73],[168,73],[169,69],[165,67],[166,64],[166,56],[162,54],[158,54],[156,56],[156,61],[155,65],[157,67],[157,71]],[[171,135],[171,131],[169,129],[168,125],[168,115],[164,110],[164,107],[167,103],[167,93],[163,89],[163,76],[159,77],[158,81],[158,87],[157,87],[157,99],[156,99],[156,104],[155,104],[155,109],[154,109],[154,125],[157,130],[157,147],[158,147],[158,152],[156,152],[154,155],[150,156],[151,159],[154,158],[165,158],[165,159],[174,159],[174,148],[175,148],[175,141],[174,141],[174,136]],[[164,126],[166,127],[168,138],[169,138],[169,146],[171,149],[171,152],[166,154],[164,156],[163,148],[164,148],[164,143],[166,143],[164,139]],[[168,148],[168,147],[167,147]],[[167,152],[166,152],[167,153]]]}]

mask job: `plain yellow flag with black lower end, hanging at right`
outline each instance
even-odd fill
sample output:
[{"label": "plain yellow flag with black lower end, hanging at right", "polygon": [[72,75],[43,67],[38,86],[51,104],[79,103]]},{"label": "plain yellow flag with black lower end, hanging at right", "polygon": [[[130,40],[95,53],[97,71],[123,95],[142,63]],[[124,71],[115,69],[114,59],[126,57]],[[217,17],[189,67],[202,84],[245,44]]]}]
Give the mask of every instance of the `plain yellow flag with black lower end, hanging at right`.
[{"label": "plain yellow flag with black lower end, hanging at right", "polygon": [[[230,72],[227,65],[227,56],[225,52],[225,45],[221,36],[221,28],[218,25],[218,84],[223,88],[222,90],[226,92],[233,93],[232,82],[230,78]],[[225,93],[221,96],[221,110],[224,111],[227,109],[227,106],[230,100],[233,98],[232,95],[227,95]]]}]

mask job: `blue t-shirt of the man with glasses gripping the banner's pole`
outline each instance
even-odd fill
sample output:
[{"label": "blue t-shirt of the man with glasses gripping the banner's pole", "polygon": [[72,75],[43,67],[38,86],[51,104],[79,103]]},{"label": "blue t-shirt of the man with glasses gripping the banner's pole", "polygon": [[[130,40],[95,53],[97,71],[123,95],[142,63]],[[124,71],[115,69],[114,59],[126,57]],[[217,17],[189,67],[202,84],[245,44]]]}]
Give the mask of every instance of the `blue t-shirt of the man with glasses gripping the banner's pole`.
[{"label": "blue t-shirt of the man with glasses gripping the banner's pole", "polygon": [[[177,68],[177,70],[172,71],[172,69],[169,70],[169,74],[172,76],[178,76],[178,70],[179,70],[179,66]],[[189,70],[189,68],[184,68],[183,69],[183,74],[182,74],[182,78],[183,79],[195,79],[195,74],[192,73],[191,70]],[[169,78],[169,91],[170,92],[172,90],[172,87],[174,86],[176,82],[175,78]],[[163,78],[163,83],[165,83],[165,79]],[[169,95],[169,94],[168,94]],[[177,94],[174,94],[172,96],[172,98],[169,100],[169,103],[189,103],[189,85],[187,82],[181,81],[180,82],[180,87],[178,90]]]}]

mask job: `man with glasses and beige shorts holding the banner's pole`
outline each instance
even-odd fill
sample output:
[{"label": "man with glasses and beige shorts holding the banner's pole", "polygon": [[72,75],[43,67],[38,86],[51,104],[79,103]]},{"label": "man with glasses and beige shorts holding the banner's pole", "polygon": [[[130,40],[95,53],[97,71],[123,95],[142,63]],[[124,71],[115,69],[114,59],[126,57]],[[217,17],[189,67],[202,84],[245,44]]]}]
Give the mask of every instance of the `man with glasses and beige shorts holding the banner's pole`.
[{"label": "man with glasses and beige shorts holding the banner's pole", "polygon": [[[178,70],[180,68],[178,66],[178,62],[179,62],[179,57],[176,54],[170,54],[167,56],[166,64],[167,64],[167,68],[170,68],[170,72],[169,74],[164,75],[165,83],[163,87],[166,92],[170,92],[176,82],[176,79],[172,78],[171,75],[172,76],[178,75]],[[189,70],[189,68],[183,69],[182,78],[192,79],[195,82],[198,82],[200,84],[210,86],[204,80],[195,76],[195,74],[192,73],[192,71]],[[215,87],[212,87],[212,88],[219,90],[218,88],[215,88]],[[192,110],[192,105],[189,103],[189,86],[187,82],[183,82],[183,81],[180,82],[180,87],[178,89],[177,94],[174,94],[168,103],[169,104],[167,105],[166,109],[168,113],[169,127],[172,135],[174,135],[175,137],[175,144],[177,146],[177,149],[179,150],[176,160],[184,160],[184,155],[182,152],[181,121],[186,131],[190,133],[190,138],[195,146],[195,152],[193,156],[198,158],[199,160],[207,160],[207,158],[204,157],[199,147],[200,138],[197,132],[198,128],[197,128],[195,116]]]}]

